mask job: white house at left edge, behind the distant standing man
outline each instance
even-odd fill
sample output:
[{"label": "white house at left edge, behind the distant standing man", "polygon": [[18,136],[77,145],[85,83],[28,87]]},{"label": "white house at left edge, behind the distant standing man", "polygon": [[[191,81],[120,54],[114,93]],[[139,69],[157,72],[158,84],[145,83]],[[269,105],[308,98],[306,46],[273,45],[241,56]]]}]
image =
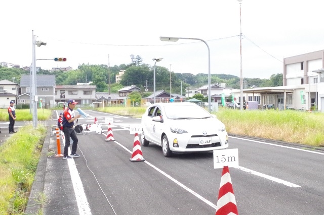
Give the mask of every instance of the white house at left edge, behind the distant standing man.
[{"label": "white house at left edge, behind the distant standing man", "polygon": [[8,81],[0,81],[0,108],[8,108],[10,101],[15,101],[17,96],[18,84]]}]

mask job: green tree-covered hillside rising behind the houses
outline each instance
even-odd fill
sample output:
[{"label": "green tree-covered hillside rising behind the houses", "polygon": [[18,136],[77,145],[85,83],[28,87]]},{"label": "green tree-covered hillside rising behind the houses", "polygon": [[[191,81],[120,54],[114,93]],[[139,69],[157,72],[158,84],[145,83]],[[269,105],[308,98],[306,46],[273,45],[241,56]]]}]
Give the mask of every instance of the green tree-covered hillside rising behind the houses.
[{"label": "green tree-covered hillside rising behind the houses", "polygon": [[[75,85],[78,82],[88,83],[97,86],[98,92],[117,92],[124,86],[136,85],[145,93],[153,92],[153,70],[154,66],[142,64],[140,56],[136,56],[131,64],[115,65],[108,67],[107,65],[90,65],[82,64],[77,69],[71,71],[48,71],[39,70],[37,74],[55,75],[56,85]],[[125,74],[121,77],[119,84],[115,83],[115,76],[120,70],[125,70]],[[21,75],[29,74],[29,71],[14,68],[4,68],[0,66],[0,80],[15,80],[20,83]],[[170,71],[161,66],[155,67],[155,88],[156,90],[170,91]],[[208,84],[208,74],[199,73],[193,75],[191,73],[172,72],[172,93],[185,93],[186,87],[200,87]],[[14,78],[14,79],[13,79]],[[110,84],[109,84],[110,83]],[[226,83],[228,88],[239,89],[240,78],[228,74],[211,74],[211,83]],[[282,73],[273,74],[269,79],[244,78],[243,88],[251,87],[274,87],[282,86]]]}]

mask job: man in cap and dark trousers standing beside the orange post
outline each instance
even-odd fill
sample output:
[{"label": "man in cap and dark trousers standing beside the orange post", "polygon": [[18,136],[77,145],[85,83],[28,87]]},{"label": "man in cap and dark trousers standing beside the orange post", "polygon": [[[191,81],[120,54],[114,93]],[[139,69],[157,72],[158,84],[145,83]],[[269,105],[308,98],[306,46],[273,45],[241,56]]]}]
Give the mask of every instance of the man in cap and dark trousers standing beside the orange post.
[{"label": "man in cap and dark trousers standing beside the orange post", "polygon": [[[65,146],[64,146],[64,154],[63,159],[71,159],[73,157],[79,157],[76,153],[77,147],[77,136],[74,131],[74,120],[80,118],[81,115],[75,116],[74,108],[77,102],[73,99],[67,101],[68,108],[63,113],[62,124],[63,124],[63,133],[65,135]],[[70,146],[70,138],[72,139],[72,150],[71,154],[68,154],[69,146]]]}]

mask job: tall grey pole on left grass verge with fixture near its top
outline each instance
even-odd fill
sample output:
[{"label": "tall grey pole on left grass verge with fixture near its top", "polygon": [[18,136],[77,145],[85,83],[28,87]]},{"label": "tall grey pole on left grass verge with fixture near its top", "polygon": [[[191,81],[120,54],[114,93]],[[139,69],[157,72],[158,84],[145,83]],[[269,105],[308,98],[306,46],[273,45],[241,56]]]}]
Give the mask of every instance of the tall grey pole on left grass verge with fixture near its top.
[{"label": "tall grey pole on left grass verge with fixture near its top", "polygon": [[32,125],[33,128],[37,128],[37,85],[36,85],[36,51],[35,45],[40,47],[41,45],[46,45],[46,42],[36,41],[36,36],[34,35],[34,31],[31,31],[32,35],[32,86],[33,86],[33,94],[32,94],[32,108],[33,108],[33,116],[32,116]]}]

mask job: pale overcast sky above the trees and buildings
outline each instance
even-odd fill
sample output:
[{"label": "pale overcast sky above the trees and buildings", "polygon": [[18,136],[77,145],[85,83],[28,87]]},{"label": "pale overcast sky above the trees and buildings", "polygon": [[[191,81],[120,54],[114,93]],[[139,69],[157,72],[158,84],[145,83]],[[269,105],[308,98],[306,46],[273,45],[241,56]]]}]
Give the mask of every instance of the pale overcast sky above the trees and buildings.
[{"label": "pale overcast sky above the trees and buildings", "polygon": [[[282,59],[324,49],[322,0],[243,0],[241,3],[242,74],[269,78],[282,73]],[[2,1],[0,62],[30,66],[32,30],[42,69],[79,64],[110,66],[156,63],[176,73],[208,73],[208,48],[198,40],[163,42],[160,36],[200,38],[211,53],[211,74],[240,77],[237,0],[69,0]],[[171,65],[171,66],[170,66]],[[320,69],[320,68],[318,68]]]}]

